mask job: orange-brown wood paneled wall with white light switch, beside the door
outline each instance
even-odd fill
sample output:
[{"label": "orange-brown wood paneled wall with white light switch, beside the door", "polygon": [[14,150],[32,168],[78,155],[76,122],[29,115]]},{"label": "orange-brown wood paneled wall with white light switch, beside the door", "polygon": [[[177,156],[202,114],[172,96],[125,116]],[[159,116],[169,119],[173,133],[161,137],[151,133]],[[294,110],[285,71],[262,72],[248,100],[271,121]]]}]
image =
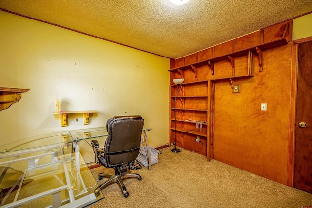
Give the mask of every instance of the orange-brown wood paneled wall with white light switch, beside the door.
[{"label": "orange-brown wood paneled wall with white light switch, beside the door", "polygon": [[[287,24],[288,23],[288,24]],[[288,27],[288,28],[287,28]],[[286,34],[285,34],[286,33]],[[263,67],[254,53],[254,77],[235,79],[240,93],[228,80],[215,81],[211,90],[212,158],[287,185],[291,111],[292,21],[273,25],[212,48],[175,60],[175,67],[218,57],[285,36],[289,43],[263,51]],[[245,75],[248,57],[236,57],[234,72],[228,60],[214,63],[214,75],[204,78]],[[207,67],[208,68],[208,67]],[[187,78],[187,77],[185,77]],[[210,86],[210,85],[208,85]],[[267,111],[261,111],[267,103]],[[192,150],[192,144],[189,144]],[[195,149],[195,147],[194,147]]]}]

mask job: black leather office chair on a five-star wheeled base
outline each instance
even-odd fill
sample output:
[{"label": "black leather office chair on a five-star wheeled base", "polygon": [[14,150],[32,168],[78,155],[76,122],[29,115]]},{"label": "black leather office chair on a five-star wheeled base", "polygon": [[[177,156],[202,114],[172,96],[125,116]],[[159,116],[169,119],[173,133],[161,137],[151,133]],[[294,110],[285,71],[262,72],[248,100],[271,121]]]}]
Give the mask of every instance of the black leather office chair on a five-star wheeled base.
[{"label": "black leather office chair on a five-star wheeled base", "polygon": [[115,169],[115,175],[106,173],[100,173],[98,175],[99,180],[103,177],[109,179],[95,189],[96,196],[99,195],[101,189],[104,189],[113,182],[117,182],[124,197],[128,197],[129,193],[122,179],[132,177],[138,180],[142,179],[137,173],[127,174],[126,172],[131,168],[131,163],[138,156],[143,125],[144,119],[140,115],[114,117],[106,123],[108,136],[104,148],[99,149],[97,140],[91,141],[95,154],[95,162],[98,164],[101,163],[106,168]]}]

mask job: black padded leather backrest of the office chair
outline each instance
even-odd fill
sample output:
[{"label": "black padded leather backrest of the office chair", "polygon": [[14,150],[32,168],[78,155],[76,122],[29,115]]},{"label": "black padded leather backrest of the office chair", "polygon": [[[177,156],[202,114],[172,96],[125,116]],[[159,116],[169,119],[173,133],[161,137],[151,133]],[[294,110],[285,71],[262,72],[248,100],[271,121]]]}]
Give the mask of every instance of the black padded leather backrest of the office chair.
[{"label": "black padded leather backrest of the office chair", "polygon": [[140,115],[117,116],[107,121],[105,160],[109,167],[134,161],[139,153],[144,119]]}]

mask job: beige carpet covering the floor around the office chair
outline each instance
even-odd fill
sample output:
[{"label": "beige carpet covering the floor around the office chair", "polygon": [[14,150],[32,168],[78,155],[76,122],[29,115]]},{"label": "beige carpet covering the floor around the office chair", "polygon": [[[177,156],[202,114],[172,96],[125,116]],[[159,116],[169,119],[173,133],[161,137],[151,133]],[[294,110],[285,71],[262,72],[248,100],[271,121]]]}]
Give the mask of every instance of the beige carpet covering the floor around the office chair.
[{"label": "beige carpet covering the floor around the office chair", "polygon": [[[102,192],[105,198],[92,208],[301,208],[312,207],[312,194],[278,184],[181,149],[162,149],[159,163],[136,170],[142,180],[125,179],[129,197],[117,183]],[[98,178],[103,167],[91,170]],[[102,180],[106,180],[105,178]],[[99,184],[102,181],[98,181]]]}]

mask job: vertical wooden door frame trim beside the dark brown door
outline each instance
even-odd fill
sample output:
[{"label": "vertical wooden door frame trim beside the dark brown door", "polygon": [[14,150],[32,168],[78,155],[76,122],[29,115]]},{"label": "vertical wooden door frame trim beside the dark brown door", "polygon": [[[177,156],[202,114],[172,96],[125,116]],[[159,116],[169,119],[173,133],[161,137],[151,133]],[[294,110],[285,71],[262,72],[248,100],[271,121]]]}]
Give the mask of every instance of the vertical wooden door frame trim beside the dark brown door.
[{"label": "vertical wooden door frame trim beside the dark brown door", "polygon": [[293,187],[294,179],[294,146],[295,146],[295,129],[296,129],[296,99],[297,99],[297,60],[298,44],[292,44],[291,57],[291,99],[289,115],[289,136],[288,136],[288,163],[287,163],[287,186]]}]

